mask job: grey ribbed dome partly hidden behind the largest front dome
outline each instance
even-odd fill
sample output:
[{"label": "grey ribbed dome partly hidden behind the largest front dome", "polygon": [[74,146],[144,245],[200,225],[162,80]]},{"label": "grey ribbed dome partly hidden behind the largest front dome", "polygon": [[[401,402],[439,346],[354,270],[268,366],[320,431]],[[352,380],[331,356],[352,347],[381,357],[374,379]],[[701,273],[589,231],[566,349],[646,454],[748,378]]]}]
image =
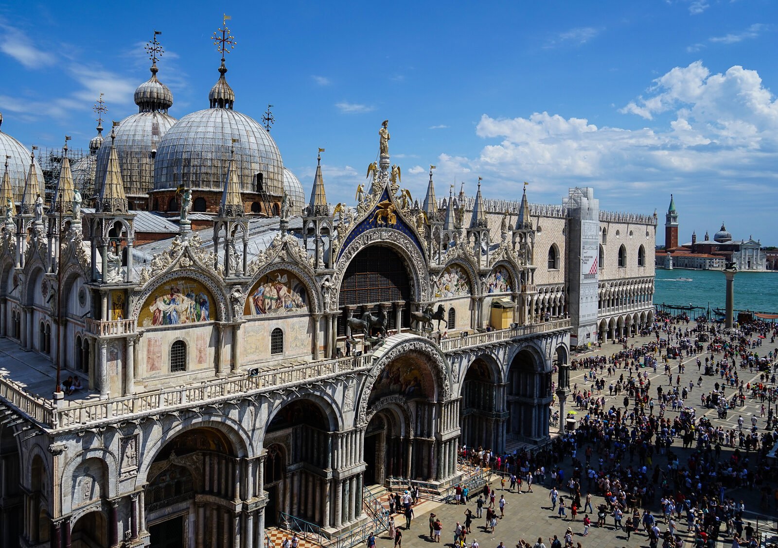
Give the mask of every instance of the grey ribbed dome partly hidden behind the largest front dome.
[{"label": "grey ribbed dome partly hidden behind the largest front dome", "polygon": [[[154,186],[154,158],[152,151],[159,148],[166,131],[176,119],[168,113],[145,111],[124,118],[114,129],[114,147],[121,166],[121,179],[128,195],[146,194]],[[103,143],[97,151],[95,180],[103,180],[108,165],[110,143]],[[100,189],[96,189],[100,191]]]}]

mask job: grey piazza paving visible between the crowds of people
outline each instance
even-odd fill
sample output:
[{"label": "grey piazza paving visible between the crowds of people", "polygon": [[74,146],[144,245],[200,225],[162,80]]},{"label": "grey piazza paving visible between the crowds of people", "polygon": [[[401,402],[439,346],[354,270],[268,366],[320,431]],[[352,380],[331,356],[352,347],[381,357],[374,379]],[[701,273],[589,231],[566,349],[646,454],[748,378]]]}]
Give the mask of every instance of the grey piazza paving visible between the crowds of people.
[{"label": "grey piazza paving visible between the crowds of people", "polygon": [[[685,323],[680,324],[682,327],[685,327]],[[695,323],[689,323],[689,327],[693,327]],[[666,338],[667,334],[662,333],[662,338]],[[636,347],[642,345],[645,342],[648,342],[650,340],[655,340],[655,337],[652,333],[651,337],[631,337],[629,338],[629,344],[634,344]],[[603,344],[603,347],[601,349],[598,349],[597,351],[593,352],[587,352],[584,354],[579,354],[571,356],[571,359],[575,358],[584,358],[586,356],[592,356],[592,355],[605,355],[610,356],[614,354],[617,351],[620,351],[622,349],[622,346],[620,344]],[[767,339],[762,340],[762,346],[755,349],[760,356],[766,355],[768,351],[772,350],[773,352],[776,351],[776,344],[770,344],[769,337]],[[658,355],[658,354],[657,354]],[[750,418],[752,414],[756,414],[757,417],[759,417],[759,411],[761,407],[761,403],[759,400],[752,400],[751,398],[746,398],[745,400],[745,407],[738,407],[735,410],[730,410],[727,419],[720,420],[717,417],[717,412],[715,409],[706,409],[700,405],[699,395],[701,392],[704,391],[704,393],[709,393],[711,390],[713,390],[713,385],[716,382],[720,382],[720,377],[717,376],[703,376],[703,385],[702,387],[698,388],[696,386],[697,379],[699,379],[700,372],[697,371],[696,367],[696,358],[697,356],[700,356],[703,361],[703,372],[704,372],[704,363],[705,363],[705,354],[695,354],[691,357],[684,357],[684,363],[686,365],[685,373],[681,375],[682,379],[682,386],[689,385],[689,380],[692,380],[694,382],[694,388],[692,389],[692,392],[687,400],[685,400],[685,405],[687,406],[693,406],[696,408],[697,411],[697,417],[699,418],[701,414],[704,414],[706,417],[710,418],[710,420],[713,422],[714,425],[722,424],[724,428],[734,428],[737,430],[738,428],[738,415],[742,415],[745,424],[750,424]],[[722,354],[716,354],[716,359],[720,360],[722,358]],[[675,384],[675,377],[678,375],[678,360],[671,360],[671,363],[673,365],[672,372],[673,372],[673,382]],[[646,369],[641,369],[640,371],[643,372]],[[650,395],[656,396],[656,386],[668,386],[667,376],[663,375],[664,368],[662,365],[659,365],[657,367],[657,374],[654,374],[651,368],[648,368],[647,371],[649,372],[648,378],[651,380],[651,388],[650,388]],[[605,383],[605,389],[602,390],[602,395],[605,396],[606,400],[608,401],[608,407],[611,405],[622,405],[624,394],[619,394],[619,396],[609,396],[608,395],[608,385],[611,383],[611,381],[615,381],[619,378],[619,375],[621,375],[621,372],[623,370],[619,369],[619,372],[616,373],[616,375],[611,375],[610,377],[606,376],[606,383]],[[756,371],[756,370],[755,370]],[[573,389],[573,385],[577,384],[579,388],[583,386],[591,386],[591,382],[584,382],[584,370],[578,369],[576,371],[570,372],[570,388]],[[606,369],[607,373],[607,369]],[[752,382],[754,379],[757,381],[759,380],[759,373],[755,372],[754,374],[750,374],[748,372],[748,369],[745,369],[744,371],[738,371],[738,374],[741,375],[741,379],[745,380],[745,382]],[[626,376],[626,375],[625,375]],[[732,389],[727,389],[727,393],[731,396],[731,394],[734,393]],[[569,397],[569,401],[567,403],[566,410],[576,410],[576,407],[572,406],[572,396]],[[559,409],[559,405],[555,405],[555,409]],[[654,413],[659,412],[659,406],[657,403],[657,406],[654,408]],[[676,412],[670,410],[670,407],[668,406],[668,410],[665,411],[665,417],[675,417]],[[579,413],[576,415],[576,417],[584,417],[585,412],[579,411]],[[759,419],[759,430],[764,431],[766,425],[766,419]],[[745,426],[744,426],[745,428]],[[552,426],[552,431],[555,431],[557,428]],[[578,455],[580,456],[580,459],[584,460],[584,449],[586,445],[580,447],[578,449]],[[598,458],[598,453],[596,451],[596,448],[593,448],[594,454],[592,456],[593,461]],[[673,444],[673,451],[676,452],[679,456],[680,462],[685,462],[685,459],[689,456],[689,453],[691,452],[689,449],[682,449],[682,444],[680,439],[676,439],[676,441]],[[731,449],[727,449],[725,447],[722,448],[722,459],[727,458],[728,453],[731,452]],[[637,461],[637,459],[636,459]],[[571,469],[571,459],[568,457],[562,464],[562,466],[565,469],[566,477],[570,476],[570,473],[572,472]],[[664,468],[666,465],[664,458],[657,459],[657,456],[654,456],[654,462],[659,462],[660,465]],[[549,480],[550,481],[550,480]],[[556,512],[551,511],[551,504],[548,497],[548,488],[542,487],[540,485],[534,486],[534,492],[533,493],[517,493],[515,490],[509,491],[500,490],[500,483],[499,478],[497,476],[492,476],[492,487],[497,490],[497,500],[499,500],[500,494],[505,494],[505,498],[508,504],[506,504],[506,517],[504,519],[498,519],[498,523],[495,529],[494,533],[485,532],[484,528],[484,519],[476,519],[473,522],[473,528],[470,535],[467,537],[467,543],[468,546],[470,543],[473,542],[473,540],[478,540],[478,544],[482,548],[496,548],[500,542],[504,543],[505,546],[508,548],[513,548],[513,546],[516,546],[516,544],[519,542],[520,539],[526,540],[531,545],[534,545],[534,543],[538,540],[538,536],[543,537],[544,543],[546,546],[550,548],[551,543],[548,539],[548,537],[552,537],[553,535],[559,536],[559,539],[562,540],[562,543],[564,543],[563,536],[566,532],[567,527],[572,527],[573,529],[573,543],[581,543],[583,546],[648,546],[648,538],[645,533],[642,531],[639,533],[633,533],[631,539],[629,542],[627,541],[626,533],[622,530],[615,531],[613,527],[613,518],[608,515],[608,518],[606,519],[606,526],[605,528],[598,528],[594,524],[597,522],[596,515],[590,515],[590,518],[592,518],[592,526],[590,528],[589,535],[584,537],[583,531],[584,531],[584,524],[583,524],[583,518],[584,514],[579,513],[576,522],[570,522],[569,519],[566,521],[562,521],[562,519],[557,518]],[[526,490],[526,486],[524,486],[524,490]],[[562,496],[566,496],[567,490],[566,488],[562,488],[559,490],[559,494]],[[585,490],[585,483],[582,485],[581,494],[585,498],[586,496],[586,490]],[[658,499],[660,497],[660,494],[657,493],[657,496],[655,497],[655,500],[657,502],[654,503],[654,505],[651,507],[651,510],[653,511],[654,515],[657,516],[659,514],[658,511]],[[757,518],[759,518],[759,529],[762,531],[762,525],[765,522],[766,519],[773,520],[768,522],[768,526],[770,529],[772,529],[773,533],[776,532],[776,522],[774,521],[776,518],[776,511],[775,509],[770,510],[760,510],[759,508],[759,493],[755,490],[748,490],[748,489],[736,489],[736,490],[727,490],[727,497],[734,497],[735,500],[743,500],[745,501],[745,516],[744,521],[750,521],[752,522],[752,525],[756,525]],[[441,519],[441,522],[443,522],[443,535],[441,543],[447,543],[451,545],[453,543],[453,531],[454,527],[456,526],[457,521],[460,521],[464,523],[464,511],[466,508],[470,508],[471,511],[473,511],[475,515],[475,498],[474,497],[471,501],[471,504],[468,504],[467,506],[460,505],[456,506],[454,504],[433,504],[430,501],[426,501],[423,504],[420,504],[418,507],[415,508],[415,519],[412,522],[412,527],[410,532],[406,532],[403,529],[403,546],[426,546],[431,541],[429,540],[427,533],[429,532],[429,526],[427,525],[428,519],[429,519],[429,512],[434,511],[435,514]],[[596,509],[597,505],[603,501],[602,497],[594,497],[593,499],[593,506]],[[769,512],[769,515],[765,512]],[[569,518],[569,509],[568,509],[568,518]],[[398,525],[405,525],[405,519],[401,515],[397,515],[395,518]],[[664,522],[659,523],[660,529],[662,532],[664,532],[664,529],[666,529]],[[722,526],[722,532],[724,531],[724,527]],[[687,536],[687,530],[686,530],[686,522],[685,518],[682,518],[681,520],[678,520],[678,531],[681,533],[682,537],[684,537],[686,541],[686,546],[692,546],[692,543],[689,542],[690,537]],[[382,548],[383,546],[391,546],[393,543],[390,541],[386,533],[384,533],[382,536],[380,536],[379,539],[377,539],[377,546],[379,548]],[[731,536],[726,535],[720,535],[719,537],[719,543],[720,546],[730,546],[731,545]],[[661,543],[660,543],[661,546]]]}]

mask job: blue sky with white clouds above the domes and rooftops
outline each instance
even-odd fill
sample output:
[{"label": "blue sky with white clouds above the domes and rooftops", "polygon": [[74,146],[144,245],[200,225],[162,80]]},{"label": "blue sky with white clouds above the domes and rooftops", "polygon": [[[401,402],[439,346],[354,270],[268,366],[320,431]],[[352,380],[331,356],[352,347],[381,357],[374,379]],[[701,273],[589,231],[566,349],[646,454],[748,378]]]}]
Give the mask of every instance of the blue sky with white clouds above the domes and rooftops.
[{"label": "blue sky with white clouds above the domes and rooftops", "polygon": [[[716,232],[778,244],[776,2],[230,2],[235,107],[259,120],[308,190],[317,147],[332,202],[353,201],[389,119],[403,186],[457,180],[488,197],[559,203],[591,186],[608,210],[653,212],[675,194],[681,239]],[[0,6],[2,130],[86,148],[92,105],[136,107],[143,44],[166,50],[170,114],[208,106],[222,23],[212,2]],[[156,14],[155,14],[156,12]],[[104,124],[107,127],[108,124]],[[659,242],[664,239],[661,236]]]}]

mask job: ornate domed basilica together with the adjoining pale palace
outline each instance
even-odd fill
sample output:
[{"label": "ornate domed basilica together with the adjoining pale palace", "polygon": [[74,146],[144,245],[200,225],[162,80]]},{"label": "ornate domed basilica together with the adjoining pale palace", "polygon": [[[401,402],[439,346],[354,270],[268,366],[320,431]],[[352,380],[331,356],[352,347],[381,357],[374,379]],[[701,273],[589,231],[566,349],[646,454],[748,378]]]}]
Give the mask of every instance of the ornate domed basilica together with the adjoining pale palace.
[{"label": "ornate domed basilica together with the adjoining pale palace", "polygon": [[224,59],[209,108],[170,117],[155,46],[138,113],[82,166],[65,149],[48,200],[0,132],[0,545],[360,542],[367,487],[442,493],[460,445],[546,442],[571,345],[650,325],[655,216],[439,197],[433,169],[414,200],[387,121],[331,204],[321,162],[303,194],[234,110]]}]

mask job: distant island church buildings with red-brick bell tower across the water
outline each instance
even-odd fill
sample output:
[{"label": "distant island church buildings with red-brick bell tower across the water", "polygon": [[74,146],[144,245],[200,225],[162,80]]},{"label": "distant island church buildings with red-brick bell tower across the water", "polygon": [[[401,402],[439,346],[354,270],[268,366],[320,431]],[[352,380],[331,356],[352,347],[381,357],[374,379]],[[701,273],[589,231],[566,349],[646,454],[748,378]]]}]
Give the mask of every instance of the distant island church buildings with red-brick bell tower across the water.
[{"label": "distant island church buildings with red-brick bell tower across the water", "polygon": [[657,268],[693,268],[704,271],[723,270],[727,262],[734,262],[739,271],[766,271],[767,258],[759,240],[734,240],[727,231],[724,222],[721,229],[713,235],[713,240],[705,232],[705,239],[697,241],[696,232],[692,232],[692,241],[678,245],[678,211],[675,200],[670,195],[670,207],[664,222],[664,249],[655,255]]}]

